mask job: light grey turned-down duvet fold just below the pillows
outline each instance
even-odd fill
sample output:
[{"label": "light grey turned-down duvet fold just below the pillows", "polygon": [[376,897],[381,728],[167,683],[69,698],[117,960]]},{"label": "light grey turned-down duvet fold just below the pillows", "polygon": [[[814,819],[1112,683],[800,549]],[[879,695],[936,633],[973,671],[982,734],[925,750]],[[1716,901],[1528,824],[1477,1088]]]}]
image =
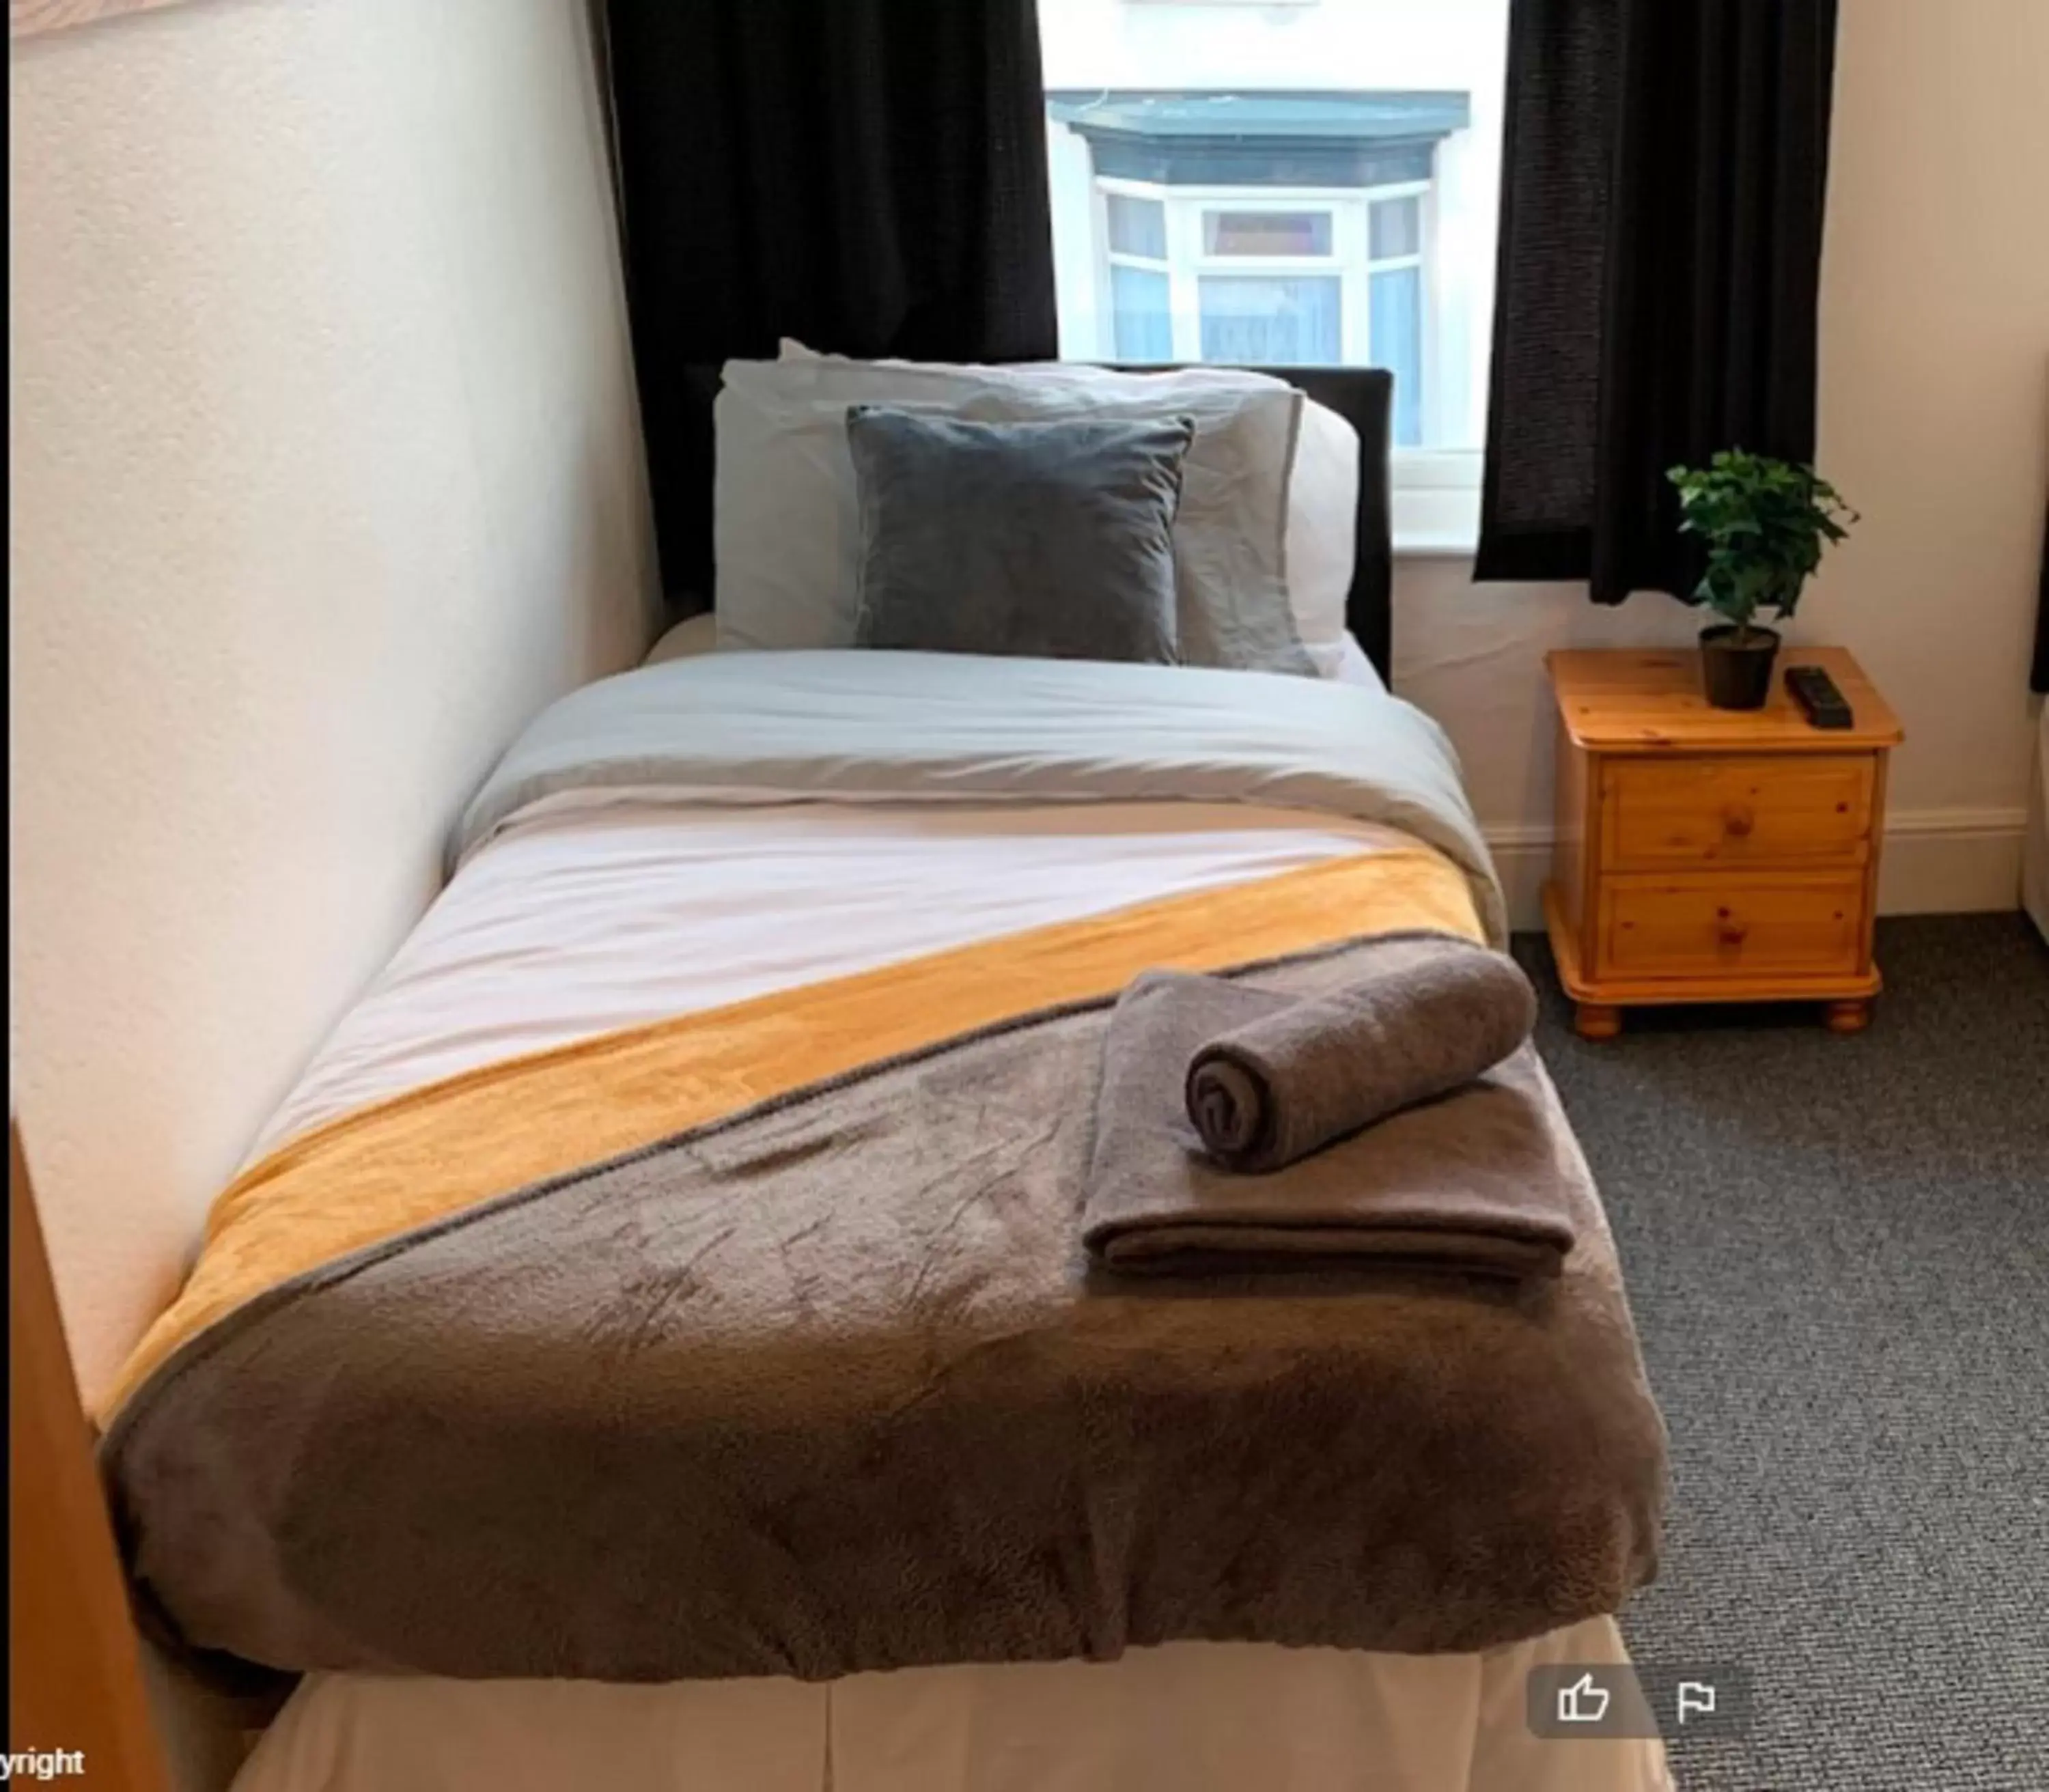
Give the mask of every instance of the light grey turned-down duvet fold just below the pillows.
[{"label": "light grey turned-down duvet fold just below the pillows", "polygon": [[1445,731],[1381,690],[1193,666],[971,653],[709,653],[543,711],[463,811],[455,856],[549,797],[699,803],[1248,803],[1381,821],[1459,864],[1506,934]]}]

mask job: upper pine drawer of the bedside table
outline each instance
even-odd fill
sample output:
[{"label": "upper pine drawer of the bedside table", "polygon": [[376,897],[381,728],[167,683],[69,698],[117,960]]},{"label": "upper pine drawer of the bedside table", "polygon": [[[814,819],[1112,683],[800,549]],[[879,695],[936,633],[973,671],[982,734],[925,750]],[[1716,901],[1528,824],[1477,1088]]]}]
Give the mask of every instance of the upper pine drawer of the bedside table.
[{"label": "upper pine drawer of the bedside table", "polygon": [[1686,864],[1863,864],[1877,764],[1869,754],[1608,760],[1606,870]]}]

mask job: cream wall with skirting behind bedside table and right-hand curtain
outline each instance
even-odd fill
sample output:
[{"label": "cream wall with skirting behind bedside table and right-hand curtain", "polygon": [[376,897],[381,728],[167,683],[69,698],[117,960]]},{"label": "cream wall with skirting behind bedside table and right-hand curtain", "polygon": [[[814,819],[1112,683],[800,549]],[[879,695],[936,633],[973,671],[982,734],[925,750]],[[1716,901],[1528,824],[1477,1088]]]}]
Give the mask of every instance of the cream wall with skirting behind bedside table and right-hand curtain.
[{"label": "cream wall with skirting behind bedside table and right-hand curtain", "polygon": [[[2049,483],[2049,4],[1846,0],[1817,463],[1865,514],[1793,637],[1850,647],[1901,713],[1887,909],[2012,907],[2026,643]],[[1543,655],[1682,643],[1662,596],[1395,575],[1395,682],[1459,743],[1524,922],[1551,825]]]}]

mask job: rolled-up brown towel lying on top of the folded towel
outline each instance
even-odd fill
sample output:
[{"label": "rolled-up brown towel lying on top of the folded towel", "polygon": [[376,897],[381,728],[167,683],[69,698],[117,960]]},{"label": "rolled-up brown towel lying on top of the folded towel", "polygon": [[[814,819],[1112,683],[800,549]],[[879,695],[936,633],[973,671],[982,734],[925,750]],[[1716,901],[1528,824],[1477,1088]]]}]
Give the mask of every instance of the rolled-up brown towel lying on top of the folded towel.
[{"label": "rolled-up brown towel lying on top of the folded towel", "polygon": [[1385,942],[1332,995],[1225,1020],[1188,1061],[1188,1120],[1219,1163],[1279,1169],[1498,1065],[1537,1024],[1512,958],[1451,936]]}]

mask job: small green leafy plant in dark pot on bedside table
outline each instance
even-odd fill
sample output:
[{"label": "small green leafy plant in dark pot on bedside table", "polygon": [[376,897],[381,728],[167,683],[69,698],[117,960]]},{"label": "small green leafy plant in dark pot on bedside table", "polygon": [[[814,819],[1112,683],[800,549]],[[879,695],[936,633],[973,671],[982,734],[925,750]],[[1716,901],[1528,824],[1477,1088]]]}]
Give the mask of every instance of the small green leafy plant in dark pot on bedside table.
[{"label": "small green leafy plant in dark pot on bedside table", "polygon": [[1727,621],[1701,631],[1701,672],[1715,709],[1762,709],[1772,690],[1779,631],[1799,604],[1807,575],[1856,512],[1813,467],[1725,449],[1699,467],[1666,475],[1678,487],[1680,532],[1707,545],[1707,571],[1688,602]]}]

